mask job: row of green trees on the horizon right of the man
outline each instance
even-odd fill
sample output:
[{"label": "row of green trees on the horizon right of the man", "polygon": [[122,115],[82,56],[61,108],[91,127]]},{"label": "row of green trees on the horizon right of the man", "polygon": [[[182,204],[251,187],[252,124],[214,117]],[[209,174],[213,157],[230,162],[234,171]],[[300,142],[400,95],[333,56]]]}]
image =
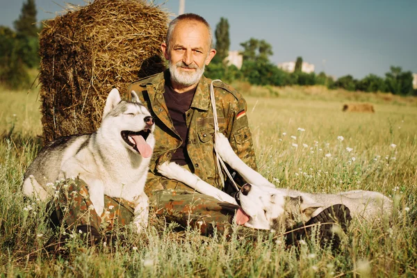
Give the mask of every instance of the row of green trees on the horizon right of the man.
[{"label": "row of green trees on the horizon right of the man", "polygon": [[294,72],[281,70],[270,62],[272,46],[265,40],[250,38],[240,43],[243,51],[243,65],[240,70],[234,65],[227,65],[229,54],[229,23],[227,19],[220,18],[215,28],[215,49],[218,51],[206,75],[211,79],[222,79],[226,82],[236,80],[247,81],[254,85],[325,85],[329,89],[343,88],[350,91],[363,92],[392,92],[395,95],[416,95],[413,89],[413,74],[403,72],[401,67],[390,67],[384,77],[368,74],[363,79],[354,79],[352,75],[333,79],[325,72],[302,72],[302,57],[297,57]]}]

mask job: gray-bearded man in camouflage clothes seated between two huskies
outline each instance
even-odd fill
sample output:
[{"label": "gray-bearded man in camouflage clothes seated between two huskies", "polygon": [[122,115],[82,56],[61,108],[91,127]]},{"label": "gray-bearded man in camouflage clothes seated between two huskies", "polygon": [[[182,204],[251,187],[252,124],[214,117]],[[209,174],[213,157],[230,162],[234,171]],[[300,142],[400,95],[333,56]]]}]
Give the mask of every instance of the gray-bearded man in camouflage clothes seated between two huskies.
[{"label": "gray-bearded man in camouflage clothes seated between two huskies", "polygon": [[[215,56],[211,44],[211,28],[203,17],[191,13],[180,15],[170,23],[162,44],[169,70],[129,87],[129,92],[138,93],[156,123],[156,146],[145,186],[151,205],[156,206],[158,214],[180,224],[198,222],[203,234],[212,230],[213,222],[218,223],[220,230],[220,223],[231,222],[236,207],[226,208],[213,197],[195,193],[185,184],[161,176],[156,166],[165,161],[176,162],[211,185],[224,189],[215,167],[211,80],[203,76],[204,67]],[[245,99],[220,81],[214,83],[214,95],[220,131],[229,138],[236,154],[256,168]]]}]

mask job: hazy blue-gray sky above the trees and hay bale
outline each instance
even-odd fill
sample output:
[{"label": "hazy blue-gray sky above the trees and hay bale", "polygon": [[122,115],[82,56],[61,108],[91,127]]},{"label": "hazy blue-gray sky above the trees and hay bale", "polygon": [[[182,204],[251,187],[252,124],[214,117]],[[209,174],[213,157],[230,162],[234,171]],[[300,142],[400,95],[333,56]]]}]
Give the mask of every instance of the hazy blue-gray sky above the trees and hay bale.
[{"label": "hazy blue-gray sky above the trees and hay bale", "polygon": [[[26,0],[0,0],[0,25],[13,26]],[[149,2],[149,0],[148,0]],[[179,0],[154,0],[177,15]],[[88,0],[35,0],[38,21],[62,12],[66,3]],[[213,31],[229,22],[229,50],[255,38],[272,45],[274,64],[297,56],[316,73],[384,76],[391,65],[417,73],[416,0],[185,0],[185,13],[204,17]],[[173,17],[172,17],[173,18]]]}]

